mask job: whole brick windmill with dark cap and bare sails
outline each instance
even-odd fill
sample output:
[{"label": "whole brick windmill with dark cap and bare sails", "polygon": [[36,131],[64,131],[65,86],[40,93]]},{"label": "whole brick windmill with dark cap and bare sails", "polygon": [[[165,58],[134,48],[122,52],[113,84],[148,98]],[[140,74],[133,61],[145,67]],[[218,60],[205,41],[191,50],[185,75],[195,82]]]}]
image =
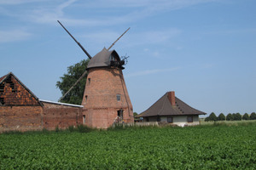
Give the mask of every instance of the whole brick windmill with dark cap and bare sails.
[{"label": "whole brick windmill with dark cap and bare sails", "polygon": [[[58,22],[61,24],[60,21]],[[62,27],[67,31],[64,26]],[[73,37],[68,31],[67,33]],[[74,37],[73,39],[77,42]],[[77,43],[90,59],[86,71],[73,85],[75,86],[82,77],[88,74],[82,101],[82,105],[84,105],[83,123],[89,127],[107,128],[116,122],[134,122],[131,99],[122,72],[125,69],[125,59],[120,59],[115,50],[109,50],[113,44],[108,49],[103,48],[101,52],[91,57],[81,44]]]}]

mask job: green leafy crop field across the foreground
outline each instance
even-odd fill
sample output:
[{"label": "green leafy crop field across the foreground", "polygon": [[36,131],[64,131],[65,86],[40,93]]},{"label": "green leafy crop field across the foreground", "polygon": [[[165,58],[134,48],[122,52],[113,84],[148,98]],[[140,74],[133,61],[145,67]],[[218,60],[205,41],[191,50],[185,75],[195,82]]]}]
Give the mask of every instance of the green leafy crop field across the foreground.
[{"label": "green leafy crop field across the foreground", "polygon": [[0,169],[256,169],[256,124],[3,133]]}]

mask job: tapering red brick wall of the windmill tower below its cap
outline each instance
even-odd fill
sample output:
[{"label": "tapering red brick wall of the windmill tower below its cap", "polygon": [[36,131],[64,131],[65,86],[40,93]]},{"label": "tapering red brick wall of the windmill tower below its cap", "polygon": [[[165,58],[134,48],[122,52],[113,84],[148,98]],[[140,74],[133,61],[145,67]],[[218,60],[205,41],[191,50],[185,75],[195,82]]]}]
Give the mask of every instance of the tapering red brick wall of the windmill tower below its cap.
[{"label": "tapering red brick wall of the windmill tower below its cap", "polygon": [[134,122],[131,100],[120,69],[91,68],[87,78],[90,78],[90,81],[86,82],[82,102],[85,125],[98,128],[110,127],[119,110],[123,111],[124,122]]}]

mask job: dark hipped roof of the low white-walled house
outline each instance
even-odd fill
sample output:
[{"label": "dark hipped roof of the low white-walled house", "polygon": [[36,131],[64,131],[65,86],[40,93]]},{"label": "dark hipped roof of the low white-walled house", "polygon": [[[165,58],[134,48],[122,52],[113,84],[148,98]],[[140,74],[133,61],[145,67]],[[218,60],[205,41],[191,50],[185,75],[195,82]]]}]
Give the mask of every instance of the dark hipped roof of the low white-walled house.
[{"label": "dark hipped roof of the low white-walled house", "polygon": [[168,93],[151,105],[148,110],[143,111],[137,117],[146,116],[182,116],[182,115],[206,115],[207,113],[198,111],[193,107],[185,104],[181,99],[175,97],[176,105],[171,105],[168,99]]}]

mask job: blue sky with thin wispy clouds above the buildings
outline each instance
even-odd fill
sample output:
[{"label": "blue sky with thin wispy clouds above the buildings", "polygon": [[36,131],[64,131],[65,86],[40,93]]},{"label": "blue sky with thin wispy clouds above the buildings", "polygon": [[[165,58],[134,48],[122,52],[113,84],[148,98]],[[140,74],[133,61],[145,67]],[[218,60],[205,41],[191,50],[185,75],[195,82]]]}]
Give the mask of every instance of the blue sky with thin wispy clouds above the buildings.
[{"label": "blue sky with thin wispy clouds above the buildings", "polygon": [[0,77],[12,71],[39,99],[87,56],[129,56],[123,70],[133,110],[168,91],[206,112],[256,111],[255,0],[0,0]]}]

